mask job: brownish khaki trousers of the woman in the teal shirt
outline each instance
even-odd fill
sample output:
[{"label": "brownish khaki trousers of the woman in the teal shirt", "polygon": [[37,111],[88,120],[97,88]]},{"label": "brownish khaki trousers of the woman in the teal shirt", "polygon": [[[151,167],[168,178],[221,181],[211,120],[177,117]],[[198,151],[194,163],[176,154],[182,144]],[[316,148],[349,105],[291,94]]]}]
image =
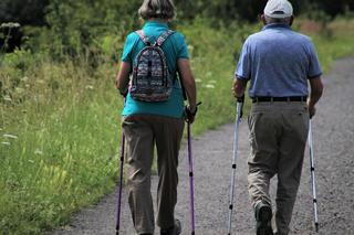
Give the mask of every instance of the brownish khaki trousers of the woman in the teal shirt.
[{"label": "brownish khaki trousers of the woman in the teal shirt", "polygon": [[155,115],[123,118],[122,128],[127,143],[128,202],[137,234],[154,234],[154,206],[150,174],[154,147],[157,149],[157,225],[174,225],[177,203],[178,151],[184,119]]}]

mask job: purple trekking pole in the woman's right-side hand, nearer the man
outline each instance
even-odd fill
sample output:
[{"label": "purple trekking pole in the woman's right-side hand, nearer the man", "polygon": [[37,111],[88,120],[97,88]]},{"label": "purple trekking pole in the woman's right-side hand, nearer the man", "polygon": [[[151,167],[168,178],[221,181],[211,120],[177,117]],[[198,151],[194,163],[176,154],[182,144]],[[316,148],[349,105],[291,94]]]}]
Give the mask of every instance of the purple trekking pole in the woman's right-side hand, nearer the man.
[{"label": "purple trekking pole in the woman's right-side hand, nearer the man", "polygon": [[[201,105],[201,102],[197,104],[197,107]],[[190,122],[187,120],[187,139],[188,139],[188,164],[189,164],[189,192],[190,192],[190,227],[191,235],[196,234],[195,223],[195,196],[192,186],[192,158],[191,158],[191,136],[190,136]]]}]

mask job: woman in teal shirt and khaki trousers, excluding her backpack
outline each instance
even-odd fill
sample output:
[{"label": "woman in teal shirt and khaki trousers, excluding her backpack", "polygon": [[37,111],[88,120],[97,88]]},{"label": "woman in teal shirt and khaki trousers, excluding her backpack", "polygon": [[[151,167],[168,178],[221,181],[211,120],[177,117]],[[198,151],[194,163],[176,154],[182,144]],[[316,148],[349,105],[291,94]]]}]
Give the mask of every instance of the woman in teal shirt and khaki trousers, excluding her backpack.
[{"label": "woman in teal shirt and khaki trousers, excluding her backpack", "polygon": [[[171,0],[145,0],[138,12],[145,20],[142,30],[150,43],[168,30],[168,22],[176,14]],[[127,36],[116,78],[117,89],[126,95],[122,128],[127,143],[128,201],[137,234],[154,234],[150,168],[156,145],[159,177],[157,225],[163,235],[179,234],[180,223],[175,218],[174,212],[177,203],[178,152],[184,130],[184,97],[177,72],[186,88],[189,122],[194,121],[197,111],[196,84],[184,35],[175,32],[162,45],[174,81],[169,99],[158,103],[134,99],[128,92],[129,75],[137,54],[144,47],[145,44],[136,32]]]}]

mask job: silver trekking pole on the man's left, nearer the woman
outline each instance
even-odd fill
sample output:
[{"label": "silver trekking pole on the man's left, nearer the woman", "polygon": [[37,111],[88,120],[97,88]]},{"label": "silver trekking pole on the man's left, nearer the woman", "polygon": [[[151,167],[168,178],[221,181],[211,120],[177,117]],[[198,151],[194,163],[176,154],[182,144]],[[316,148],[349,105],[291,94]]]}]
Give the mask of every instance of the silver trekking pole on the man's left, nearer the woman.
[{"label": "silver trekking pole on the man's left, nearer the woman", "polygon": [[231,218],[232,218],[232,209],[233,209],[233,193],[235,193],[235,177],[237,168],[237,150],[239,141],[239,126],[242,117],[242,108],[244,103],[244,96],[237,98],[236,105],[236,121],[235,121],[235,133],[233,133],[233,159],[232,159],[232,173],[231,173],[231,189],[230,189],[230,204],[229,204],[229,224],[228,224],[228,235],[231,234]]}]

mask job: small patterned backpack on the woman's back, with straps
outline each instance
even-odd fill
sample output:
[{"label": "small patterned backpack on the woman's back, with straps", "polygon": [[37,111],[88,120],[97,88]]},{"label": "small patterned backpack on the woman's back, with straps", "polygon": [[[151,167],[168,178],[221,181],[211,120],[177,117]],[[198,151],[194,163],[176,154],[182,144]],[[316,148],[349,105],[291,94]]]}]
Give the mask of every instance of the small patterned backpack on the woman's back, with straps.
[{"label": "small patterned backpack on the woman's back, with straps", "polygon": [[169,74],[162,45],[174,31],[164,32],[154,44],[142,30],[136,33],[145,46],[137,54],[133,64],[131,96],[142,102],[166,102],[173,90],[173,76]]}]

